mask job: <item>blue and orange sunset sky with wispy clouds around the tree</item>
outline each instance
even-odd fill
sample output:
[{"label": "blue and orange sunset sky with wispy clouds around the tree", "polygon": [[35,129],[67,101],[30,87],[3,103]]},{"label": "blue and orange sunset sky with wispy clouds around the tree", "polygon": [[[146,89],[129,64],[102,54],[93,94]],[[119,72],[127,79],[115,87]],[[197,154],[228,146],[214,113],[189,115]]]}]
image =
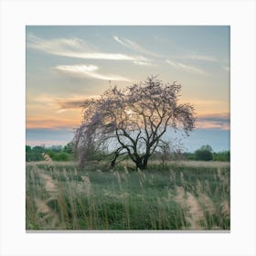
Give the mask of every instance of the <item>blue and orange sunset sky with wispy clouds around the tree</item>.
[{"label": "blue and orange sunset sky with wispy clouds around the tree", "polygon": [[[197,123],[187,151],[229,150],[229,27],[27,26],[27,144],[67,144],[80,104],[158,75],[182,85]],[[172,136],[167,133],[167,136]]]}]

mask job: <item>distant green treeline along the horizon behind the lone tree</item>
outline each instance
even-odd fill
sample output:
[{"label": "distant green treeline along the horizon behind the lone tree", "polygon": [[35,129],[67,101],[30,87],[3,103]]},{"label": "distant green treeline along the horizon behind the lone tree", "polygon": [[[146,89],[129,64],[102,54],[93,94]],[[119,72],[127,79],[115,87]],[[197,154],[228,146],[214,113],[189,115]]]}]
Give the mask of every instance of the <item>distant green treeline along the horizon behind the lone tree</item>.
[{"label": "distant green treeline along the horizon behind the lone tree", "polygon": [[[76,160],[75,155],[73,154],[73,145],[71,143],[62,146],[62,145],[53,145],[51,147],[45,147],[42,145],[37,145],[31,147],[26,145],[26,161],[43,161],[46,160],[46,156],[48,155],[53,161],[71,161]],[[88,157],[89,161],[100,161],[108,157],[106,153],[97,151],[91,152]],[[152,155],[151,160],[160,160],[163,163],[165,161],[172,160],[196,160],[196,161],[221,161],[221,162],[229,162],[230,161],[230,152],[222,151],[222,152],[213,152],[210,145],[202,145],[199,149],[197,149],[194,153],[182,153],[180,151],[176,152],[168,152],[168,153],[160,153],[155,152]]]}]

